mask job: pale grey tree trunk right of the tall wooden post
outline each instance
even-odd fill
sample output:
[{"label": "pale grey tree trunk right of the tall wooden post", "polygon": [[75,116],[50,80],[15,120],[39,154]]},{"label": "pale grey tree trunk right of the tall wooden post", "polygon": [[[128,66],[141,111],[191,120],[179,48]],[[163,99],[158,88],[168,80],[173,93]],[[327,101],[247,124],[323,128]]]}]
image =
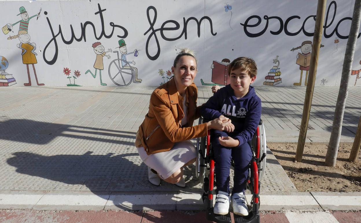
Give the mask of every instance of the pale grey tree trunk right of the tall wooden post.
[{"label": "pale grey tree trunk right of the tall wooden post", "polygon": [[350,28],[350,33],[348,35],[345,58],[343,61],[340,90],[336,102],[336,109],[334,114],[334,121],[332,123],[332,131],[331,131],[329,147],[327,148],[326,161],[325,161],[326,166],[334,167],[336,165],[337,152],[341,138],[343,115],[345,111],[345,104],[348,94],[348,82],[350,80],[353,55],[355,53],[358,30],[360,28],[360,18],[361,18],[360,11],[361,11],[361,0],[355,0],[355,6],[353,7],[351,28]]}]

